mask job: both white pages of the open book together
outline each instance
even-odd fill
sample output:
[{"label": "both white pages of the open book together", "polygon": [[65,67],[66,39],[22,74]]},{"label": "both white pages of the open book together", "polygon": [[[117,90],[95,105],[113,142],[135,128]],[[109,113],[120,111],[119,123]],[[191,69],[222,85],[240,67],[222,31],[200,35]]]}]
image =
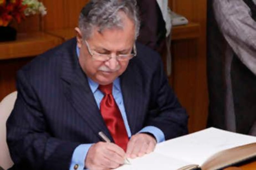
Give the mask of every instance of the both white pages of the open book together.
[{"label": "both white pages of the open book together", "polygon": [[200,166],[219,151],[253,142],[256,142],[256,137],[208,128],[159,143],[154,152],[141,158],[129,159],[131,165],[117,169],[174,170],[191,164]]}]

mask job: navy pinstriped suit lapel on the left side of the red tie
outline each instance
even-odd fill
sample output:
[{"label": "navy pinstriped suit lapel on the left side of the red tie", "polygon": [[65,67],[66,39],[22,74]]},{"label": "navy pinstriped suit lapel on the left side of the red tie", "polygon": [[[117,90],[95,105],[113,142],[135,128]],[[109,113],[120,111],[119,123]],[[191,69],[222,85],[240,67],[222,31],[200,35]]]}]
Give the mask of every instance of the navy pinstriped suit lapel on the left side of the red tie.
[{"label": "navy pinstriped suit lapel on the left side of the red tie", "polygon": [[91,92],[87,77],[80,68],[75,49],[72,55],[64,54],[63,56],[61,78],[66,83],[65,96],[91,127],[92,133],[99,137],[98,133],[103,131],[113,141]]}]

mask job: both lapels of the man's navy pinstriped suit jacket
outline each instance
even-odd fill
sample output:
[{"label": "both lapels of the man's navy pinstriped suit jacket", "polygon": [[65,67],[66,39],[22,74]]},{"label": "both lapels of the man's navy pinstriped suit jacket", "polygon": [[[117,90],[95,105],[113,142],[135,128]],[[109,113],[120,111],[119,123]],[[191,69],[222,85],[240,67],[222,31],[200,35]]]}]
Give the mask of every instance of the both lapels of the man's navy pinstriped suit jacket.
[{"label": "both lapels of the man's navy pinstriped suit jacket", "polygon": [[[131,133],[135,134],[144,122],[145,89],[140,70],[131,60],[125,72],[120,76],[124,107]],[[76,112],[91,127],[92,133],[98,136],[103,131],[113,142],[107,126],[100,114],[94,96],[89,87],[87,77],[78,63],[76,44],[69,52],[63,53],[61,79],[65,83],[65,96]],[[134,76],[136,74],[136,76]],[[99,136],[98,136],[99,137]]]}]

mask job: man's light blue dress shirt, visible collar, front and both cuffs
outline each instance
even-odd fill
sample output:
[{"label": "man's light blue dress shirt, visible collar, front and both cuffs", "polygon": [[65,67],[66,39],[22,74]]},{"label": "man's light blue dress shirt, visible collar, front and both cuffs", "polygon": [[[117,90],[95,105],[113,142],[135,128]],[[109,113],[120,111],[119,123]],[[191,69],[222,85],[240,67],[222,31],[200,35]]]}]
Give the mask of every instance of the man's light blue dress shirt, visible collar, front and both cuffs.
[{"label": "man's light blue dress shirt, visible collar, front and both cuffs", "polygon": [[[76,53],[77,53],[77,56],[79,57],[79,48],[78,47],[76,47]],[[89,86],[90,86],[91,91],[93,93],[93,96],[96,100],[97,106],[100,109],[100,101],[104,97],[104,94],[98,89],[98,86],[99,86],[98,83],[94,82],[90,78],[88,78],[88,83],[89,83]],[[122,91],[121,91],[120,79],[119,78],[116,78],[115,81],[113,82],[112,94],[113,94],[113,97],[116,101],[116,104],[117,104],[117,106],[118,106],[118,108],[121,112],[121,115],[123,117],[125,129],[127,131],[127,135],[130,138],[131,137],[131,130],[130,130],[128,120],[127,120],[127,117],[126,117],[126,113],[125,113],[123,95],[122,95]],[[146,133],[153,134],[154,137],[156,138],[157,143],[163,142],[165,140],[163,131],[160,130],[159,128],[154,127],[154,126],[146,126],[143,129],[141,129],[138,133],[141,133],[141,132],[146,132]],[[85,160],[87,152],[88,152],[88,150],[91,146],[92,146],[92,144],[80,144],[76,147],[76,149],[74,150],[73,155],[72,155],[72,160],[71,160],[69,170],[74,170],[75,165],[78,165],[78,168],[77,168],[78,170],[83,170],[84,169],[84,166],[85,166],[84,165],[84,160]]]}]

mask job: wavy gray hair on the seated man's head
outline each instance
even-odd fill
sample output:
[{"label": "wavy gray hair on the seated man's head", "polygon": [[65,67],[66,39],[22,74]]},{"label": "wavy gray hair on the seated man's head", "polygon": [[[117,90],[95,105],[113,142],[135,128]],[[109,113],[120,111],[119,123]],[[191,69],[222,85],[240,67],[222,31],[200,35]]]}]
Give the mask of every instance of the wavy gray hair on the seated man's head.
[{"label": "wavy gray hair on the seated man's head", "polygon": [[99,32],[110,28],[123,28],[119,11],[123,11],[135,25],[135,39],[139,35],[140,20],[136,0],[91,0],[82,9],[78,26],[82,36],[88,39],[92,35],[94,27]]}]

